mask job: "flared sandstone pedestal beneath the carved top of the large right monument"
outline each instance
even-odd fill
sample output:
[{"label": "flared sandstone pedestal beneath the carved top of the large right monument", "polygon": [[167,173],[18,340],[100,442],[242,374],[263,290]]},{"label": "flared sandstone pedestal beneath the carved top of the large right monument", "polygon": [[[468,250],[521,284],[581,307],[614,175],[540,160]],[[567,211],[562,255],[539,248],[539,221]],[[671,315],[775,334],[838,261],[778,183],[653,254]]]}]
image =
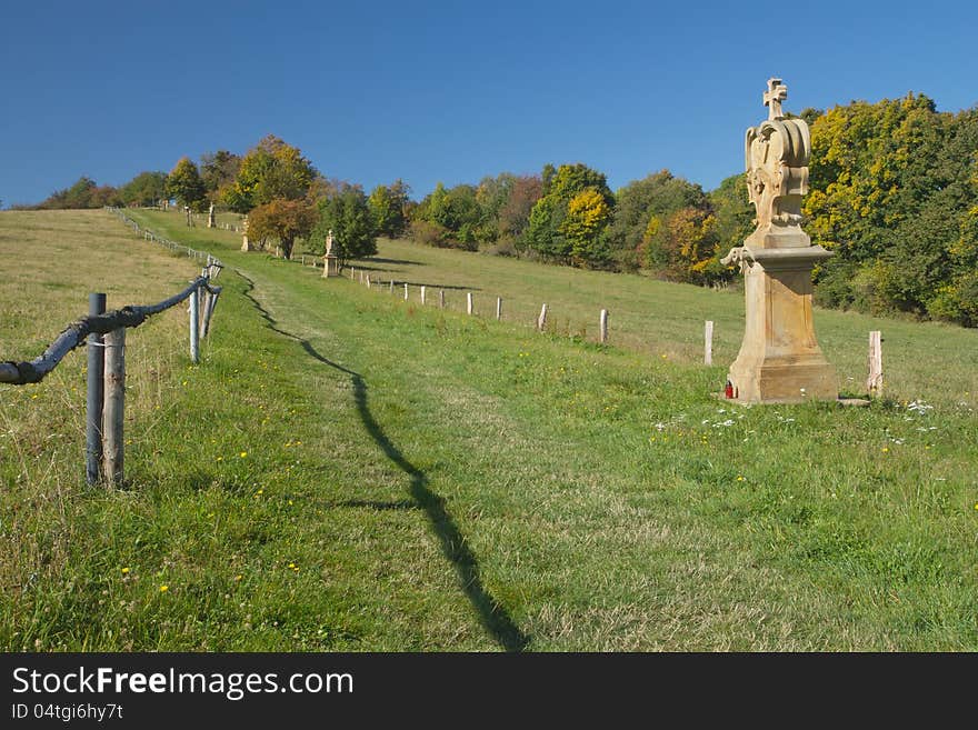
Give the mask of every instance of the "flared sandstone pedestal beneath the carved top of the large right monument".
[{"label": "flared sandstone pedestal beneath the carved top of the large right monument", "polygon": [[811,318],[811,269],[831,256],[820,246],[746,246],[735,258],[745,271],[744,342],[728,379],[740,403],[836,400],[836,369],[825,359]]}]

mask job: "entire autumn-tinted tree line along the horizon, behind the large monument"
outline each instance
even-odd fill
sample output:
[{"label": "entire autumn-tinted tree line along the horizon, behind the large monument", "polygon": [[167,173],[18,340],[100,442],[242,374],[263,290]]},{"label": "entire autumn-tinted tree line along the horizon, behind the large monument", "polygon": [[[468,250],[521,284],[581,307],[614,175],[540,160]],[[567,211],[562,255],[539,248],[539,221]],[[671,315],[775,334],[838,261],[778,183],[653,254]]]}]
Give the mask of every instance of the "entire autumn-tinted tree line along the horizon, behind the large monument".
[{"label": "entire autumn-tinted tree line along the horizon, behind the large monument", "polygon": [[[811,191],[806,230],[835,251],[815,271],[822,306],[909,312],[978,326],[978,108],[938,112],[907,94],[807,109]],[[537,174],[502,172],[478,183],[438,183],[420,201],[401,180],[368,196],[326,178],[302,152],[269,136],[244,156],[181,158],[120,188],[82,178],[40,208],[148,206],[162,198],[248,216],[249,238],[322,252],[329,230],[341,259],[370,256],[377,238],[552,263],[642,272],[702,286],[739,280],[720,263],[754,228],[745,174],[715,190],[653,172],[612,191],[576,162]]]}]

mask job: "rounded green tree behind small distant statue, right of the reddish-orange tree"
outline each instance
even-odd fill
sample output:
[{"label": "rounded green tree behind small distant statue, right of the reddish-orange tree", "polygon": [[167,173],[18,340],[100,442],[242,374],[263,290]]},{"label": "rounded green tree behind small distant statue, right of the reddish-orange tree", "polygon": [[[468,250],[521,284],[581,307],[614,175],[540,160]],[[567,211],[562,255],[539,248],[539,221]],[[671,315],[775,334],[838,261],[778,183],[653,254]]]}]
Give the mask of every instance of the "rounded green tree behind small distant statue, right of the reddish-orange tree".
[{"label": "rounded green tree behind small distant statue, right of the reddish-orange tree", "polygon": [[[309,237],[310,244],[326,252],[326,237],[333,233],[333,252],[340,266],[349,259],[377,253],[377,228],[367,196],[356,186],[346,186],[317,203],[319,219]],[[249,219],[250,220],[250,219]]]}]

